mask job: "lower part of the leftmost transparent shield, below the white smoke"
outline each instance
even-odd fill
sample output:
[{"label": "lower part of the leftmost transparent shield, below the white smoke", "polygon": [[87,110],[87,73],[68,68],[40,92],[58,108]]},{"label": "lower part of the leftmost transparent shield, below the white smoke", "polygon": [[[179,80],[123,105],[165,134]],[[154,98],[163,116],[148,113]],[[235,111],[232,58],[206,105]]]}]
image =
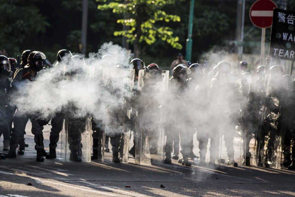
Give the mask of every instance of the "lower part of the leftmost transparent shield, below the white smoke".
[{"label": "lower part of the leftmost transparent shield, below the white smoke", "polygon": [[61,132],[63,162],[91,162],[91,118],[65,117]]}]

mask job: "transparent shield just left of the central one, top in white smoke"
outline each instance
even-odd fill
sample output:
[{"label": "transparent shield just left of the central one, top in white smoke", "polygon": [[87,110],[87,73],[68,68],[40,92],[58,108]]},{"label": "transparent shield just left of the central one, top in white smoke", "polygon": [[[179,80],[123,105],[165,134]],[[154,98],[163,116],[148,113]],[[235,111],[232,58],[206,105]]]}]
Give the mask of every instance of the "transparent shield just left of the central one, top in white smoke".
[{"label": "transparent shield just left of the central one, top in white smoke", "polygon": [[[119,154],[122,163],[128,163],[130,128],[128,120],[130,120],[129,97],[134,84],[134,69],[122,68],[104,68],[103,83],[106,91],[111,96],[119,93],[123,102],[117,105],[109,105],[109,113],[105,116],[104,132],[102,139],[102,162],[112,162],[113,155],[117,157]],[[106,101],[107,102],[107,101]],[[108,145],[112,149],[106,150],[106,139],[109,137]]]}]

